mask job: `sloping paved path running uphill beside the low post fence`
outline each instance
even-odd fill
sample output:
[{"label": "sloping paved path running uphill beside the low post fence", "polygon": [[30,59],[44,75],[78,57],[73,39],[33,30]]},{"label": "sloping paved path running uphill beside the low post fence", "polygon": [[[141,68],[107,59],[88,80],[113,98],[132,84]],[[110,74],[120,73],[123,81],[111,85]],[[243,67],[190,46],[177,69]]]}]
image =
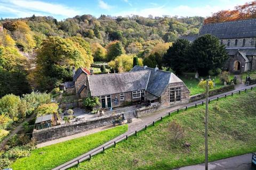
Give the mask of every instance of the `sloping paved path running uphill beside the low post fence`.
[{"label": "sloping paved path running uphill beside the low post fence", "polygon": [[[217,98],[217,97],[220,97],[220,96],[223,96],[223,95],[226,95],[226,94],[230,94],[231,92],[234,92],[234,91],[237,91],[237,90],[243,90],[245,88],[251,88],[251,87],[256,87],[256,85],[253,84],[251,86],[244,86],[242,84],[238,84],[236,86],[235,90],[231,90],[231,91],[219,94],[219,95],[211,96],[211,97],[209,97],[209,99]],[[62,166],[68,166],[69,165],[71,167],[72,165],[76,164],[76,163],[74,163],[74,164],[72,164],[72,163],[75,162],[77,159],[83,160],[83,159],[87,158],[87,157],[85,157],[86,155],[89,155],[89,154],[95,155],[95,152],[99,153],[100,151],[98,151],[98,150],[101,149],[102,147],[107,148],[107,146],[109,146],[111,143],[114,143],[114,141],[119,141],[118,140],[119,138],[125,137],[129,133],[134,132],[135,130],[138,130],[138,129],[141,129],[141,128],[145,127],[145,125],[147,125],[149,123],[152,123],[154,120],[156,120],[156,118],[164,116],[168,112],[173,112],[173,111],[176,111],[177,109],[186,107],[187,105],[193,105],[193,104],[196,104],[196,103],[201,103],[204,100],[205,99],[196,100],[196,101],[190,102],[189,104],[182,104],[182,105],[179,105],[179,106],[174,106],[174,107],[166,108],[166,109],[163,109],[162,111],[157,111],[157,112],[155,112],[155,113],[153,113],[151,115],[140,117],[141,121],[129,124],[129,128],[128,128],[128,131],[126,133],[124,133],[122,135],[119,135],[119,137],[116,137],[115,139],[110,140],[110,141],[104,143],[103,145],[101,145],[101,146],[99,146],[97,148],[94,148],[91,151],[89,151],[89,152],[87,152],[87,153],[85,153],[85,154],[83,154],[83,155],[81,155],[81,156],[79,156],[77,158],[74,158],[74,159],[70,160],[69,162],[67,162],[65,164],[62,164],[62,165],[60,165],[60,166],[58,166],[56,168],[53,168],[53,170],[66,169],[66,168],[61,168]]]}]

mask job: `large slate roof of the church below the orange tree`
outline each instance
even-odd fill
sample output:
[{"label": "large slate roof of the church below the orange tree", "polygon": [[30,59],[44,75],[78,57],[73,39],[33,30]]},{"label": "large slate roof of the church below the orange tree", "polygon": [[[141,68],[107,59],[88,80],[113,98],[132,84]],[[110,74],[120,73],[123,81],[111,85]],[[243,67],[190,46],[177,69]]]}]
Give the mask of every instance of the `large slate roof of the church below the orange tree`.
[{"label": "large slate roof of the church below the orange tree", "polygon": [[256,19],[205,24],[199,35],[207,33],[219,39],[256,37]]}]

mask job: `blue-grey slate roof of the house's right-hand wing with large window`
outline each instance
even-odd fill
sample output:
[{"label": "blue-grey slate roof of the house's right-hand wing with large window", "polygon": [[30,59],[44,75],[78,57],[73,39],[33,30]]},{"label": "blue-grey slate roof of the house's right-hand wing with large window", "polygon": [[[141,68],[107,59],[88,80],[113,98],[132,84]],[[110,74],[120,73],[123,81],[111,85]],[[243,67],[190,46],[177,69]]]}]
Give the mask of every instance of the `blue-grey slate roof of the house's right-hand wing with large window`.
[{"label": "blue-grey slate roof of the house's right-hand wing with large window", "polygon": [[155,71],[155,69],[149,67],[136,65],[132,68],[130,72],[142,70],[149,70],[151,72],[146,91],[150,92],[150,94],[153,94],[157,97],[161,97],[164,89],[169,83],[183,82],[175,74],[171,72],[162,70]]}]

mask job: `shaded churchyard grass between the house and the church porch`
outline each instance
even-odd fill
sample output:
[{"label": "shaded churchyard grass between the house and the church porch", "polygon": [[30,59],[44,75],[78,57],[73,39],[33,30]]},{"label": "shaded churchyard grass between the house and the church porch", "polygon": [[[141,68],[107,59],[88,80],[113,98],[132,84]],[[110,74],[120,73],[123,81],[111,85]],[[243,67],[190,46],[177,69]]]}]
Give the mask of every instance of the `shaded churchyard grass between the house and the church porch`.
[{"label": "shaded churchyard grass between the house and the church porch", "polygon": [[[201,94],[204,92],[204,89],[199,88],[198,85],[198,80],[195,79],[195,73],[185,73],[185,75],[179,77],[188,87],[190,90],[190,96],[196,95],[196,94]],[[215,80],[215,88],[218,89],[220,87],[223,87],[224,85],[221,83],[219,77],[211,77],[211,79]],[[213,90],[214,90],[213,89]]]}]

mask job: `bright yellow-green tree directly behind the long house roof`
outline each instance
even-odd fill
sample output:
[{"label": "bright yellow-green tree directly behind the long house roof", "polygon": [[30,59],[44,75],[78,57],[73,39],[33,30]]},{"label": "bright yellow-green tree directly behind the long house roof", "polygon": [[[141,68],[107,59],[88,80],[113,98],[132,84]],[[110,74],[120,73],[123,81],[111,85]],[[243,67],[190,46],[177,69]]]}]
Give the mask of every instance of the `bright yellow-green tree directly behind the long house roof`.
[{"label": "bright yellow-green tree directly behind the long house roof", "polygon": [[[133,58],[134,55],[122,54],[116,57],[114,61],[109,62],[108,65],[118,72],[127,72],[133,67]],[[141,58],[138,58],[138,65],[142,65]]]}]

